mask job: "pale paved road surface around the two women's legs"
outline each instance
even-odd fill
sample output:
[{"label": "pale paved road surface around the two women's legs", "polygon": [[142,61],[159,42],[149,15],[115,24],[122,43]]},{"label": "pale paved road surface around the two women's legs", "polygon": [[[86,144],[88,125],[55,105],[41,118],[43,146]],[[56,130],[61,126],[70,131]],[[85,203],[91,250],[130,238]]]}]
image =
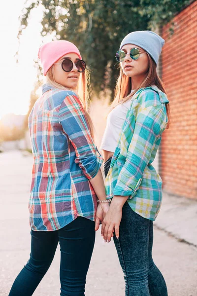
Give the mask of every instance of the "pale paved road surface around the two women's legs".
[{"label": "pale paved road surface around the two women's legs", "polygon": [[[29,258],[28,198],[32,156],[0,153],[0,296],[7,296]],[[153,255],[164,274],[169,296],[197,296],[197,249],[155,229]],[[34,296],[60,295],[60,252]],[[88,272],[86,296],[124,296],[124,281],[113,242],[104,244],[97,232]]]}]

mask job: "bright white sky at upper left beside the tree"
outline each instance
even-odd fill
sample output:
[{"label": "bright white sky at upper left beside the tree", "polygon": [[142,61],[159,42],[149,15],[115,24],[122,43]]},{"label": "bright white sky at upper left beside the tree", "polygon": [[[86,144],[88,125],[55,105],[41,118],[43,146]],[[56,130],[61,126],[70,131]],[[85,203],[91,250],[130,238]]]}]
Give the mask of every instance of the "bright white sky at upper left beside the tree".
[{"label": "bright white sky at upper left beside the tree", "polygon": [[16,63],[18,17],[25,0],[9,0],[9,5],[6,2],[1,3],[0,16],[0,119],[7,113],[28,112],[30,93],[36,80],[33,60],[37,59],[42,44],[40,21],[43,10],[40,6],[34,8],[29,25],[20,39],[19,63]]}]

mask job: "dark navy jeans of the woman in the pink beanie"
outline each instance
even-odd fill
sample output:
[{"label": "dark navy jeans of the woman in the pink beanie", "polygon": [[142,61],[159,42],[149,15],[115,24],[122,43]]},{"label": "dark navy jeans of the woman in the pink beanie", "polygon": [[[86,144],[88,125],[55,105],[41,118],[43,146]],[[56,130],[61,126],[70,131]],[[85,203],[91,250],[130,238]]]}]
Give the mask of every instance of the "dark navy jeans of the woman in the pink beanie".
[{"label": "dark navy jeans of the woman in the pink beanie", "polygon": [[95,243],[95,222],[78,217],[56,231],[31,231],[31,254],[9,296],[31,296],[61,248],[61,296],[84,296],[86,275]]}]

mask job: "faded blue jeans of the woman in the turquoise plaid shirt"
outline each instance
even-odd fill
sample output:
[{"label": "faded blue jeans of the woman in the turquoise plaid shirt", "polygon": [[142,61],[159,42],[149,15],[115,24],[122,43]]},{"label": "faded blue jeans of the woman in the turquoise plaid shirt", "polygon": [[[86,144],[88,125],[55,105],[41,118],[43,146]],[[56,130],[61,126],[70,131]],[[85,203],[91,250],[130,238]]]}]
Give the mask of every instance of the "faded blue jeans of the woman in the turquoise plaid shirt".
[{"label": "faded blue jeans of the woman in the turquoise plaid shirt", "polygon": [[167,296],[164,277],[153,262],[153,222],[123,206],[120,237],[114,235],[126,296]]}]

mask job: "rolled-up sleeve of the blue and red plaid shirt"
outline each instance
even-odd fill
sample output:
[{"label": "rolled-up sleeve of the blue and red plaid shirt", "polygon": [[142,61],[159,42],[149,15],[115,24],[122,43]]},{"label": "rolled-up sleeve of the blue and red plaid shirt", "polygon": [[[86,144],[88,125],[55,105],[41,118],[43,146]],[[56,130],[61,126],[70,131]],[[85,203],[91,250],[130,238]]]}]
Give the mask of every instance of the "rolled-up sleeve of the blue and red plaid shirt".
[{"label": "rolled-up sleeve of the blue and red plaid shirt", "polygon": [[79,99],[67,95],[59,110],[59,122],[75,149],[75,162],[87,179],[94,178],[103,161],[94,145]]}]

